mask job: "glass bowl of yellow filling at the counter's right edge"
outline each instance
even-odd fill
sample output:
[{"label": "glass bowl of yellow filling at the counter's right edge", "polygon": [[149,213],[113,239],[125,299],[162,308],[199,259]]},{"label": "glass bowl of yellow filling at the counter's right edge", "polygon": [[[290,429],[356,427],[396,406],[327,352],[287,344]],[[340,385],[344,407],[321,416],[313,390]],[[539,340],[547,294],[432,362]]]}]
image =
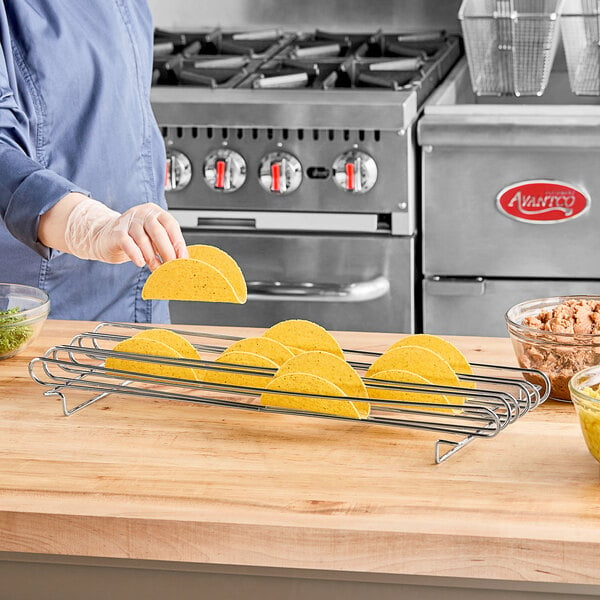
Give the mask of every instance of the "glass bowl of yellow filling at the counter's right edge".
[{"label": "glass bowl of yellow filling at the counter's right edge", "polygon": [[[590,454],[600,462],[600,366],[588,367],[569,381],[571,400]],[[597,396],[596,396],[597,394]]]}]

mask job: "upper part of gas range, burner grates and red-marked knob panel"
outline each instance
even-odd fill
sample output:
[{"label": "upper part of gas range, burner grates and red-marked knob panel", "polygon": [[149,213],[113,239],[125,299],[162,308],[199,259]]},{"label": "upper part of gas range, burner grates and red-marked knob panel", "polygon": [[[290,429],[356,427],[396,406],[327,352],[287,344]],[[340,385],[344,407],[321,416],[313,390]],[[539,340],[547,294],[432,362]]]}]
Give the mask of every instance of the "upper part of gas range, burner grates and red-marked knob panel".
[{"label": "upper part of gas range, burner grates and red-marked knob panel", "polygon": [[169,207],[413,234],[415,124],[460,55],[443,31],[156,31]]}]

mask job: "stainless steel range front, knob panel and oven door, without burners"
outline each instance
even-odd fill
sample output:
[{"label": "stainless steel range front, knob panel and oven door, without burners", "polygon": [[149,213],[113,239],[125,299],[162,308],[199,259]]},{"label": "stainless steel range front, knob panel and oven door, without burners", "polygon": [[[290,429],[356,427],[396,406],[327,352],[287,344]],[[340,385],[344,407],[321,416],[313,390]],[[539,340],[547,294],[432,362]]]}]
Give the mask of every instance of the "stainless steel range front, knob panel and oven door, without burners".
[{"label": "stainless steel range front, knob panel and oven door, without burners", "polygon": [[[311,119],[322,113],[305,114],[302,127],[297,117],[286,128],[233,127],[225,115],[218,120],[227,126],[219,128],[163,127],[170,160],[179,153],[190,157],[189,182],[180,189],[186,171],[171,164],[170,212],[188,244],[212,244],[231,254],[249,291],[244,306],[173,302],[173,322],[267,327],[306,318],[329,329],[415,331],[414,126],[404,135],[321,130]],[[351,154],[355,162],[340,159]],[[217,155],[230,163],[223,175],[211,163]],[[238,181],[232,156],[243,157],[243,185],[231,192],[215,189],[221,177],[224,187]],[[261,181],[265,161],[271,168],[277,164],[272,157],[283,157],[282,169],[295,157],[303,163],[281,176],[286,193],[271,189],[275,178],[269,170],[266,189]],[[333,165],[342,160],[362,172],[356,177],[360,192],[336,183]],[[376,164],[376,174],[368,161]],[[301,182],[290,189],[296,176]]]}]

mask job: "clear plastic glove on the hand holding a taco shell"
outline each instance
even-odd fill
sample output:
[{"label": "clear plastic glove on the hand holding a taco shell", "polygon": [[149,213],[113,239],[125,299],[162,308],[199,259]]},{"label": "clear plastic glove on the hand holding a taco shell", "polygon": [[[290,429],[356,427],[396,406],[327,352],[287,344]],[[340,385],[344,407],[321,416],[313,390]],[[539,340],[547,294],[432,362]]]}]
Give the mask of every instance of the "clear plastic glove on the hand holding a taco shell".
[{"label": "clear plastic glove on the hand holding a taco shell", "polygon": [[83,197],[70,212],[64,233],[66,250],[78,258],[107,263],[133,261],[153,271],[188,256],[175,218],[156,204],[133,206],[120,214]]}]

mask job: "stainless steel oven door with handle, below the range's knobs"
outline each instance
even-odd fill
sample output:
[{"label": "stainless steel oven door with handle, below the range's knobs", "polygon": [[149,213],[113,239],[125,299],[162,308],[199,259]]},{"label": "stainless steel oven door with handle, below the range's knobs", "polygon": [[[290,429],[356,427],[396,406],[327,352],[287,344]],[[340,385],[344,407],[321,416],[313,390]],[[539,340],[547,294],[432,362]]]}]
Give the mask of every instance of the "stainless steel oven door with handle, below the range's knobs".
[{"label": "stainless steel oven door with handle, below the range's knobs", "polygon": [[414,238],[389,234],[184,229],[188,245],[228,252],[248,285],[243,305],[171,302],[173,323],[414,331]]}]

